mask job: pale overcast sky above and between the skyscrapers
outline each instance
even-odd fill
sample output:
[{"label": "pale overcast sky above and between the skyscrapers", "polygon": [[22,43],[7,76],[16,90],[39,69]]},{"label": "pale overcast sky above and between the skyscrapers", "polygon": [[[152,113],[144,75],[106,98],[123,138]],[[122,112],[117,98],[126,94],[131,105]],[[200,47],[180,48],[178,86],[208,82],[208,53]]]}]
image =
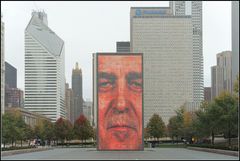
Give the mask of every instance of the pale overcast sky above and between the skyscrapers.
[{"label": "pale overcast sky above and between the skyscrapers", "polygon": [[[167,7],[168,3],[1,1],[5,60],[17,68],[17,86],[24,90],[24,30],[32,10],[44,10],[48,26],[65,42],[67,82],[71,87],[72,68],[78,62],[83,72],[83,97],[92,100],[92,53],[116,52],[116,41],[130,40],[130,7]],[[203,2],[204,86],[211,86],[216,54],[226,50],[231,50],[231,2]]]}]

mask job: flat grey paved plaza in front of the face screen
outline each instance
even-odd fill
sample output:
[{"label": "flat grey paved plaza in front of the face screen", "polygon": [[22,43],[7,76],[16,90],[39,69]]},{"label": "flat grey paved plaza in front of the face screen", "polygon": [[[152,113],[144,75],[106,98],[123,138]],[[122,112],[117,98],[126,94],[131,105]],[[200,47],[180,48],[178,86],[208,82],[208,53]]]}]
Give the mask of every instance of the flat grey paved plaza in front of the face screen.
[{"label": "flat grey paved plaza in front of the face screen", "polygon": [[33,159],[216,159],[216,160],[238,160],[239,157],[222,155],[216,153],[189,150],[185,148],[145,148],[144,151],[97,151],[95,148],[54,148],[47,151],[16,154],[2,157],[3,160],[33,160]]}]

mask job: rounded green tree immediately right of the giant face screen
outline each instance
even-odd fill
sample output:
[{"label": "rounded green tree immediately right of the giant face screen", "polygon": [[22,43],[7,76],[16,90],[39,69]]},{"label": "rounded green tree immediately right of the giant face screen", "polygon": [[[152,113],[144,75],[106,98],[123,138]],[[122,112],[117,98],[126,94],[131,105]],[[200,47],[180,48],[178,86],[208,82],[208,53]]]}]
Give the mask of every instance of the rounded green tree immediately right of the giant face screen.
[{"label": "rounded green tree immediately right of the giant face screen", "polygon": [[153,114],[147,124],[147,132],[151,137],[160,138],[165,134],[166,126],[158,114]]}]

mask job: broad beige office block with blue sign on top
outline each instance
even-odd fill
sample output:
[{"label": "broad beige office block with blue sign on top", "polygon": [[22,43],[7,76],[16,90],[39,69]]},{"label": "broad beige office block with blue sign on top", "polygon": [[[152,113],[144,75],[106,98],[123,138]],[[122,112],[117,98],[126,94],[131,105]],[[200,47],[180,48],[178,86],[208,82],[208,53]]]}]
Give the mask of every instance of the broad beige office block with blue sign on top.
[{"label": "broad beige office block with blue sign on top", "polygon": [[191,16],[170,7],[132,7],[131,52],[143,53],[144,126],[157,113],[165,124],[193,101]]}]

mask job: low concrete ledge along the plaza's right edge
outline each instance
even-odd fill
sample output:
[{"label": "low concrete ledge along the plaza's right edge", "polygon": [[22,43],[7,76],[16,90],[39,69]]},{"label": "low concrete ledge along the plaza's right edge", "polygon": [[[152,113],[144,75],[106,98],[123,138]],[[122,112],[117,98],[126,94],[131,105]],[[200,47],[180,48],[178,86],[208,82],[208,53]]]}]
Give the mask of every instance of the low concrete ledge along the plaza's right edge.
[{"label": "low concrete ledge along the plaza's right edge", "polygon": [[205,152],[211,152],[211,153],[218,153],[218,154],[224,154],[224,155],[231,155],[231,156],[238,156],[238,151],[211,149],[211,148],[200,148],[200,147],[187,147],[187,149],[205,151]]}]

